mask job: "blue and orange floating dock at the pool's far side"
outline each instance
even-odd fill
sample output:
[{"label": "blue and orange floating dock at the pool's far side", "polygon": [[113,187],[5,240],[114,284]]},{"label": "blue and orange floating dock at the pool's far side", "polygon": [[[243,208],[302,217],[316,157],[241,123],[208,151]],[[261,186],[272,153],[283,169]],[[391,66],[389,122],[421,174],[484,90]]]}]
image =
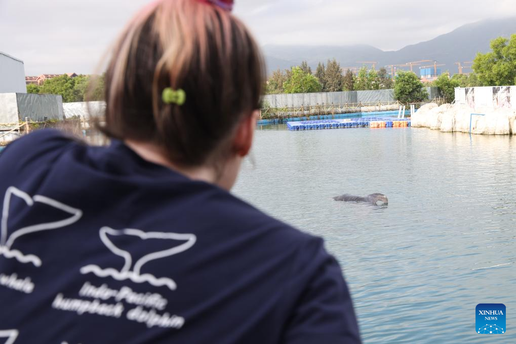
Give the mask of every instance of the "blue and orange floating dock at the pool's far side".
[{"label": "blue and orange floating dock at the pool's far side", "polygon": [[346,119],[325,119],[318,121],[287,122],[288,130],[321,130],[344,128],[401,128],[410,127],[409,118],[363,117]]}]

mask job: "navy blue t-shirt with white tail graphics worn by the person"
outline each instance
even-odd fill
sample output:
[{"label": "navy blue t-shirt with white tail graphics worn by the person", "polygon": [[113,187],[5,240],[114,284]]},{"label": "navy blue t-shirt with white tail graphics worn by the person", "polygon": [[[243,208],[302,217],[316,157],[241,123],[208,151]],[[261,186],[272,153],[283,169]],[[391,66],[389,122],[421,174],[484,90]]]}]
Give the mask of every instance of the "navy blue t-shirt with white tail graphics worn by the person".
[{"label": "navy blue t-shirt with white tail graphics worn by the person", "polygon": [[0,201],[0,342],[360,342],[320,238],[121,142],[24,136]]}]

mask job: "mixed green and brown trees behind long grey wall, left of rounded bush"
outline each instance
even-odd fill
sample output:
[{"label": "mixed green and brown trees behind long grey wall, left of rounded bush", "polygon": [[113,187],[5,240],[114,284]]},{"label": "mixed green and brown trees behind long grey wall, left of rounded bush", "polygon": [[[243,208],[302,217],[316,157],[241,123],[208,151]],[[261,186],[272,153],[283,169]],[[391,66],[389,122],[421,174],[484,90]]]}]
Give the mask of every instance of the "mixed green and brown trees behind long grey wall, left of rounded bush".
[{"label": "mixed green and brown trees behind long grey wall, left of rounded bush", "polygon": [[267,81],[267,93],[374,90],[392,88],[393,84],[385,68],[376,71],[363,67],[354,75],[349,69],[343,73],[340,63],[333,59],[326,66],[319,62],[312,73],[308,62],[303,61],[300,66],[274,71]]}]

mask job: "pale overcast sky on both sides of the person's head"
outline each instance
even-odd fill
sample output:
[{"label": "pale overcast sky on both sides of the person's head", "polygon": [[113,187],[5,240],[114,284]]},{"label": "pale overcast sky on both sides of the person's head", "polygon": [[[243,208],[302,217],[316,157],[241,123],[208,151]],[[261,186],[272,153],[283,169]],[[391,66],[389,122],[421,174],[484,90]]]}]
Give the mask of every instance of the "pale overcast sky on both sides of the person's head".
[{"label": "pale overcast sky on both sides of the person's head", "polygon": [[[192,0],[195,1],[195,0]],[[25,73],[92,73],[123,24],[149,0],[0,0],[0,51]],[[236,0],[261,44],[363,43],[383,50],[466,23],[516,15],[514,0]]]}]

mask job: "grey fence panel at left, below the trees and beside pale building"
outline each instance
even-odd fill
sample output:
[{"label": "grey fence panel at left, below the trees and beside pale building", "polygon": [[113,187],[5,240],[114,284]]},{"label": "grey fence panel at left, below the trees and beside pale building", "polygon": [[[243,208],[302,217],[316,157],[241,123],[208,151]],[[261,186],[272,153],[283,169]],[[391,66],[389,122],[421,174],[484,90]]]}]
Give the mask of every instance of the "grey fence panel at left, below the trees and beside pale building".
[{"label": "grey fence panel at left, below the trees and beside pale building", "polygon": [[41,122],[47,119],[63,118],[63,101],[61,96],[36,95],[33,93],[16,93],[20,119]]}]

